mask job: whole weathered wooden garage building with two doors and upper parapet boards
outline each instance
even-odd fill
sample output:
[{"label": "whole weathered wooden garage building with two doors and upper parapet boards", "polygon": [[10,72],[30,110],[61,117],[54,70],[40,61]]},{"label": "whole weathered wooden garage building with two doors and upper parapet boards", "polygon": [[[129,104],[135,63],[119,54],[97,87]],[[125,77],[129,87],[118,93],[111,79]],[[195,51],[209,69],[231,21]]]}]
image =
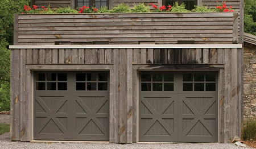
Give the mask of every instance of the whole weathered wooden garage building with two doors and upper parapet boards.
[{"label": "whole weathered wooden garage building with two doors and upper parapet boards", "polygon": [[237,12],[15,14],[14,22],[12,140],[241,136]]}]

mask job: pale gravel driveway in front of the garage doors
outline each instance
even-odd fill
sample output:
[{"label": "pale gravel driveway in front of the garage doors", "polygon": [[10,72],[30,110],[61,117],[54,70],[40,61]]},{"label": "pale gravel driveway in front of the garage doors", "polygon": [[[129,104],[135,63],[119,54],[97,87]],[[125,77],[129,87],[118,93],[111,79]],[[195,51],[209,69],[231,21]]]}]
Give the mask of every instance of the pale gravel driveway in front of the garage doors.
[{"label": "pale gravel driveway in front of the garage doors", "polygon": [[[10,123],[10,115],[0,114],[0,123]],[[244,148],[238,147],[234,145],[234,143],[133,143],[133,144],[115,144],[115,143],[84,143],[84,142],[59,142],[59,143],[32,143],[32,142],[11,142],[10,133],[5,133],[0,135],[0,148],[139,148],[139,149],[155,149],[155,148],[163,148],[163,149],[171,149],[171,148],[188,148],[188,149],[217,149],[217,148],[225,148],[225,149],[233,149],[233,148]]]}]

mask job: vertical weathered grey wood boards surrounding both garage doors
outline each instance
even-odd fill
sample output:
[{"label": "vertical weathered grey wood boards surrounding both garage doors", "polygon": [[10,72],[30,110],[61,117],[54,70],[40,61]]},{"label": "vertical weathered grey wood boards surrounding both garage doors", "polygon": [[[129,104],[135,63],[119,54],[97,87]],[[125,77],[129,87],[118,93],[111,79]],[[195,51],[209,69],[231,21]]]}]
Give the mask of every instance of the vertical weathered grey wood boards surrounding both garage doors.
[{"label": "vertical weathered grey wood boards surrounding both garage doors", "polygon": [[138,71],[218,71],[218,142],[230,142],[233,136],[241,135],[241,48],[17,46],[20,48],[10,47],[12,140],[33,139],[34,70],[110,70],[110,142],[113,143],[138,141]]}]

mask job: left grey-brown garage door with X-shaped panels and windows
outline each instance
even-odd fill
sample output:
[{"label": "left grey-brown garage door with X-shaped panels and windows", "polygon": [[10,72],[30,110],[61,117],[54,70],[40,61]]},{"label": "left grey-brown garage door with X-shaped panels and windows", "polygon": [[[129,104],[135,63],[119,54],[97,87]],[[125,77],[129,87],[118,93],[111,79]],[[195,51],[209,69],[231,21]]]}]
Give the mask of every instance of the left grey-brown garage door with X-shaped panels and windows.
[{"label": "left grey-brown garage door with X-shaped panels and windows", "polygon": [[109,140],[108,72],[34,76],[34,139]]}]

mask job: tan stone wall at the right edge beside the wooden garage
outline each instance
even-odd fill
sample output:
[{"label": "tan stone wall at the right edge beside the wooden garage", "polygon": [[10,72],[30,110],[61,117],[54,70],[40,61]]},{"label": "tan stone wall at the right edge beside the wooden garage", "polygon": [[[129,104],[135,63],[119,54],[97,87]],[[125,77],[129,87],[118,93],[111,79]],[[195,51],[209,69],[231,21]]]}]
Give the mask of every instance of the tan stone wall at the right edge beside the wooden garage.
[{"label": "tan stone wall at the right edge beside the wooden garage", "polygon": [[243,118],[256,119],[256,45],[244,44]]}]

